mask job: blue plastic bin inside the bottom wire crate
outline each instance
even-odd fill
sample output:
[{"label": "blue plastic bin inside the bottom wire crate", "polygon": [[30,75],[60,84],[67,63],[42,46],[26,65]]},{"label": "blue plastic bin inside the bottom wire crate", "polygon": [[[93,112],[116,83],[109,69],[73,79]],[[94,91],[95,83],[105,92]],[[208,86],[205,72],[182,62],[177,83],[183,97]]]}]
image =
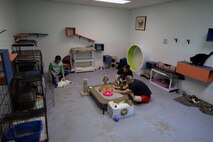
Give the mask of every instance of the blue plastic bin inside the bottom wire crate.
[{"label": "blue plastic bin inside the bottom wire crate", "polygon": [[14,140],[15,142],[39,142],[42,128],[41,120],[14,125],[7,132],[7,140]]}]

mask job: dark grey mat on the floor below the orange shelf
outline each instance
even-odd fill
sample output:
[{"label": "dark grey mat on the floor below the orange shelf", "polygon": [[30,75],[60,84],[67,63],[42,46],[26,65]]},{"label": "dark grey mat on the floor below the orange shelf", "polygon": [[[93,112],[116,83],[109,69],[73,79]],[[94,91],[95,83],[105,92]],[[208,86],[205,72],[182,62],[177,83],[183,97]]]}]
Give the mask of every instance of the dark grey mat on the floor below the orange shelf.
[{"label": "dark grey mat on the floor below the orange shelf", "polygon": [[213,105],[211,105],[203,100],[200,100],[200,99],[199,99],[200,102],[198,104],[193,104],[193,103],[189,102],[189,97],[190,97],[190,95],[184,95],[184,96],[177,97],[174,100],[183,105],[186,105],[186,106],[199,107],[199,110],[201,112],[208,114],[208,115],[213,115]]}]

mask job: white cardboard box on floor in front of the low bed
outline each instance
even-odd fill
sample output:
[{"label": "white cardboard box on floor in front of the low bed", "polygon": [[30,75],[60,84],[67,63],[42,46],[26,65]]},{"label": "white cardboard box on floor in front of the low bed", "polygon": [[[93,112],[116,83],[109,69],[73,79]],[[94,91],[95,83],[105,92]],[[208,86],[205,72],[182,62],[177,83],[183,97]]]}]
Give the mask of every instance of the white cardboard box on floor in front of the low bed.
[{"label": "white cardboard box on floor in front of the low bed", "polygon": [[110,101],[108,103],[107,112],[109,113],[110,117],[113,119],[115,117],[118,118],[126,118],[128,116],[134,115],[134,104],[126,99],[124,102],[126,102],[127,105],[123,105],[123,107],[115,107],[115,103],[119,104],[122,101]]}]

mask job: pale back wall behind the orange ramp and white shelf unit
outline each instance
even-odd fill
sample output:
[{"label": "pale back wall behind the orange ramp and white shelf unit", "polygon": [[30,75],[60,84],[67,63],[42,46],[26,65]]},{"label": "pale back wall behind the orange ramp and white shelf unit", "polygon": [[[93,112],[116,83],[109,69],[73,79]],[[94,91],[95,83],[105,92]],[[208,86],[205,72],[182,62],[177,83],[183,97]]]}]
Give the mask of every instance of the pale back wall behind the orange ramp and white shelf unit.
[{"label": "pale back wall behind the orange ramp and white shelf unit", "polygon": [[36,39],[44,57],[44,69],[55,55],[69,54],[71,48],[92,45],[78,37],[66,37],[65,27],[75,27],[76,33],[104,43],[105,50],[96,52],[96,66],[103,65],[102,55],[126,57],[129,47],[130,11],[70,3],[19,0],[19,32],[47,33]]}]

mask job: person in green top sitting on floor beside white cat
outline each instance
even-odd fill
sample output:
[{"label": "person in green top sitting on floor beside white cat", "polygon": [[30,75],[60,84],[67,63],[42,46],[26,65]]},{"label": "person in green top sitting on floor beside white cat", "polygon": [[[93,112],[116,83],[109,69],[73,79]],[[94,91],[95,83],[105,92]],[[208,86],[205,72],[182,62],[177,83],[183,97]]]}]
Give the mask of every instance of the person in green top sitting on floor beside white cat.
[{"label": "person in green top sitting on floor beside white cat", "polygon": [[64,71],[63,63],[61,62],[61,56],[55,56],[55,60],[49,64],[49,72],[52,76],[52,81],[55,87],[58,86],[60,80],[65,80],[65,76],[68,74]]}]

